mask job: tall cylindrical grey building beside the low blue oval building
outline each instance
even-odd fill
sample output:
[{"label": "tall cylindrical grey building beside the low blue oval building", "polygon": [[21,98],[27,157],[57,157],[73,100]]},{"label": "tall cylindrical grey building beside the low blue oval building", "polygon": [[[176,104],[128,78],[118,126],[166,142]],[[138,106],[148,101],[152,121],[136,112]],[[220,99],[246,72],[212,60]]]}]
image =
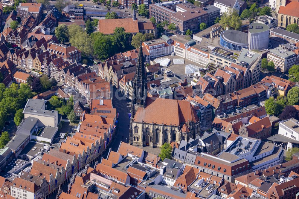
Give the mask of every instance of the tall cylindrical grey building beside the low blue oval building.
[{"label": "tall cylindrical grey building beside the low blue oval building", "polygon": [[248,46],[250,50],[264,50],[269,46],[269,26],[252,23],[248,30]]}]

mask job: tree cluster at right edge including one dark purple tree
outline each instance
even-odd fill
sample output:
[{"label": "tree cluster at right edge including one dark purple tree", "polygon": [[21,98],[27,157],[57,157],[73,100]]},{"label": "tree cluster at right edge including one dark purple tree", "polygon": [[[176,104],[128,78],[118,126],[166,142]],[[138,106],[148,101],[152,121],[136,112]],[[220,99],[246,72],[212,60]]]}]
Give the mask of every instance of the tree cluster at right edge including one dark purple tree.
[{"label": "tree cluster at right edge including one dark purple tree", "polygon": [[293,105],[299,105],[299,87],[291,88],[286,97],[278,96],[276,99],[270,97],[265,102],[267,113],[279,116],[281,120],[298,118],[298,111]]}]

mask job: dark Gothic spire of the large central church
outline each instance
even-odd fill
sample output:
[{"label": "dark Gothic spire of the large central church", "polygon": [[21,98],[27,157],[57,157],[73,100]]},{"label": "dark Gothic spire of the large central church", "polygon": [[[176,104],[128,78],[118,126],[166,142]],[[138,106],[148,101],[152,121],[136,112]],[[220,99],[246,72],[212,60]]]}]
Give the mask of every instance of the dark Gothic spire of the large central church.
[{"label": "dark Gothic spire of the large central church", "polygon": [[145,74],[142,42],[140,41],[136,71],[133,81],[132,117],[138,107],[145,107],[147,97],[147,77]]}]

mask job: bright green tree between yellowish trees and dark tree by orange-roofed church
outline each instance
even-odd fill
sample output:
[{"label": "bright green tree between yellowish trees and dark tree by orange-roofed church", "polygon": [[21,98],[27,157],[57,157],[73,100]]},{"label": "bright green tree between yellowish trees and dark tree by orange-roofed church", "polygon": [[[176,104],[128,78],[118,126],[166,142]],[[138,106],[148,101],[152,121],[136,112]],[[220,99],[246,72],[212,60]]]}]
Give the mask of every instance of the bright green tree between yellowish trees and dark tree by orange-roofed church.
[{"label": "bright green tree between yellowish trees and dark tree by orange-roofed church", "polygon": [[94,55],[97,56],[100,60],[105,60],[112,55],[113,45],[111,41],[111,36],[103,35],[102,33],[97,32],[93,33],[94,39]]}]

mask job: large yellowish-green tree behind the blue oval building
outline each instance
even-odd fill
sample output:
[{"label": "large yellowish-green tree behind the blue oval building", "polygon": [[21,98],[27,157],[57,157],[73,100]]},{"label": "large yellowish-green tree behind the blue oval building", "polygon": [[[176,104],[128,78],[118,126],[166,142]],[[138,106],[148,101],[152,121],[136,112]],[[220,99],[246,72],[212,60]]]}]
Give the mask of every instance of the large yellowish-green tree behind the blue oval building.
[{"label": "large yellowish-green tree behind the blue oval building", "polygon": [[242,26],[242,21],[236,10],[229,10],[222,14],[219,24],[223,27],[239,30]]}]

